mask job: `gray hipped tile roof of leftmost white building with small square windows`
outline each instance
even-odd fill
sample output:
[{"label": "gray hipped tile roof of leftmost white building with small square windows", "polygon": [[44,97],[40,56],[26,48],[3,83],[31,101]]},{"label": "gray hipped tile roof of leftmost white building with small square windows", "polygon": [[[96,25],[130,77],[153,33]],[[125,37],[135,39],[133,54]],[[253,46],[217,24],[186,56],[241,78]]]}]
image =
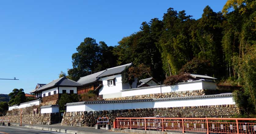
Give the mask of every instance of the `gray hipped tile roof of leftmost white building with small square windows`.
[{"label": "gray hipped tile roof of leftmost white building with small square windows", "polygon": [[[35,92],[47,90],[47,89],[50,89],[50,88],[53,88],[53,87],[57,87],[57,86],[77,87],[77,86],[82,86],[82,84],[78,83],[78,82],[75,82],[75,81],[73,81],[71,79],[68,79],[66,77],[61,77],[59,79],[55,79],[52,82],[50,82],[50,83],[48,83],[48,84],[46,84],[46,85],[36,89]],[[30,92],[30,93],[32,93],[32,92]]]}]

